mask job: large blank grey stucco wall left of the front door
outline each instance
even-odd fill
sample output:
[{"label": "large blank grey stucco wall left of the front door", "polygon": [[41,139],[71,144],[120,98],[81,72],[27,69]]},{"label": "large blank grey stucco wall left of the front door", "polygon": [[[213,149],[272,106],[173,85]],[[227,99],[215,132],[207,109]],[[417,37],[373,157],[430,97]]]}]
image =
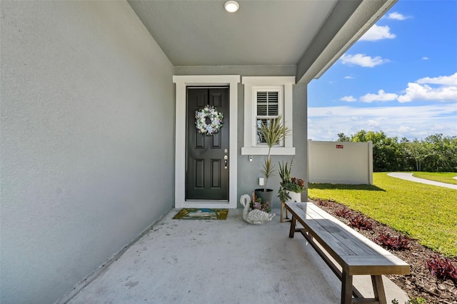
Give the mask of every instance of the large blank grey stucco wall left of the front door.
[{"label": "large blank grey stucco wall left of the front door", "polygon": [[53,303],[174,206],[172,74],[125,1],[1,1],[2,304]]}]

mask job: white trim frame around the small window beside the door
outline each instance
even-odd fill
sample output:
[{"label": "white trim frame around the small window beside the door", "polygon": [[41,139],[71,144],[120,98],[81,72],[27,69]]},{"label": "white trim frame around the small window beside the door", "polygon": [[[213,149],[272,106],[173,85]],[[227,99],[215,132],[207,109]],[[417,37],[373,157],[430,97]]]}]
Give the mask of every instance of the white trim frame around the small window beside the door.
[{"label": "white trim frame around the small window beside the door", "polygon": [[[292,133],[292,87],[295,83],[294,76],[246,76],[242,78],[244,84],[244,141],[241,155],[267,155],[268,147],[256,146],[256,91],[281,87],[283,91],[284,125]],[[281,113],[281,112],[280,112]],[[284,145],[271,148],[271,155],[295,155],[293,136],[287,136]]]}]

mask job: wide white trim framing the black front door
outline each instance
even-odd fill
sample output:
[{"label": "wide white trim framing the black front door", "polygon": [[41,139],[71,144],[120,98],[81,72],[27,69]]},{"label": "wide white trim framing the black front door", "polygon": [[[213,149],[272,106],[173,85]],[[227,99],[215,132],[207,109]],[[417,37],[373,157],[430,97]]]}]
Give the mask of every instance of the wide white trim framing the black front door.
[{"label": "wide white trim framing the black front door", "polygon": [[[237,132],[238,132],[238,83],[239,75],[173,76],[176,83],[175,123],[175,208],[236,208],[237,200]],[[186,87],[230,86],[229,103],[229,201],[186,201]]]}]

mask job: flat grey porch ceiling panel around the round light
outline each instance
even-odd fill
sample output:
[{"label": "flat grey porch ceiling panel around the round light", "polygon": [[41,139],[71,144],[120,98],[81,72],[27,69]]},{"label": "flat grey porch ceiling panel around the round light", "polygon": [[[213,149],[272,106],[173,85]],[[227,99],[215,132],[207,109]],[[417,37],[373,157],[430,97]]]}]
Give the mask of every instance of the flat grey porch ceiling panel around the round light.
[{"label": "flat grey porch ceiling panel around the round light", "polygon": [[176,66],[296,64],[336,2],[129,1]]}]

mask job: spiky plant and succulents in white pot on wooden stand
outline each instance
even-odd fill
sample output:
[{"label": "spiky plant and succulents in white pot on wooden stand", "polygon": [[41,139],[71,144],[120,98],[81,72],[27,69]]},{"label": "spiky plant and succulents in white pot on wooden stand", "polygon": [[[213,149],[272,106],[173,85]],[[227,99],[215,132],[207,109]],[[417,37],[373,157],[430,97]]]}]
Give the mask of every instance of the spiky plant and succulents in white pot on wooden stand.
[{"label": "spiky plant and succulents in white pot on wooden stand", "polygon": [[[301,178],[291,177],[293,157],[290,166],[288,163],[278,163],[279,165],[279,176],[281,177],[281,183],[278,190],[278,198],[281,201],[281,222],[283,218],[283,208],[286,201],[301,201],[301,193],[306,190],[305,182]],[[286,218],[287,211],[286,211]]]}]

